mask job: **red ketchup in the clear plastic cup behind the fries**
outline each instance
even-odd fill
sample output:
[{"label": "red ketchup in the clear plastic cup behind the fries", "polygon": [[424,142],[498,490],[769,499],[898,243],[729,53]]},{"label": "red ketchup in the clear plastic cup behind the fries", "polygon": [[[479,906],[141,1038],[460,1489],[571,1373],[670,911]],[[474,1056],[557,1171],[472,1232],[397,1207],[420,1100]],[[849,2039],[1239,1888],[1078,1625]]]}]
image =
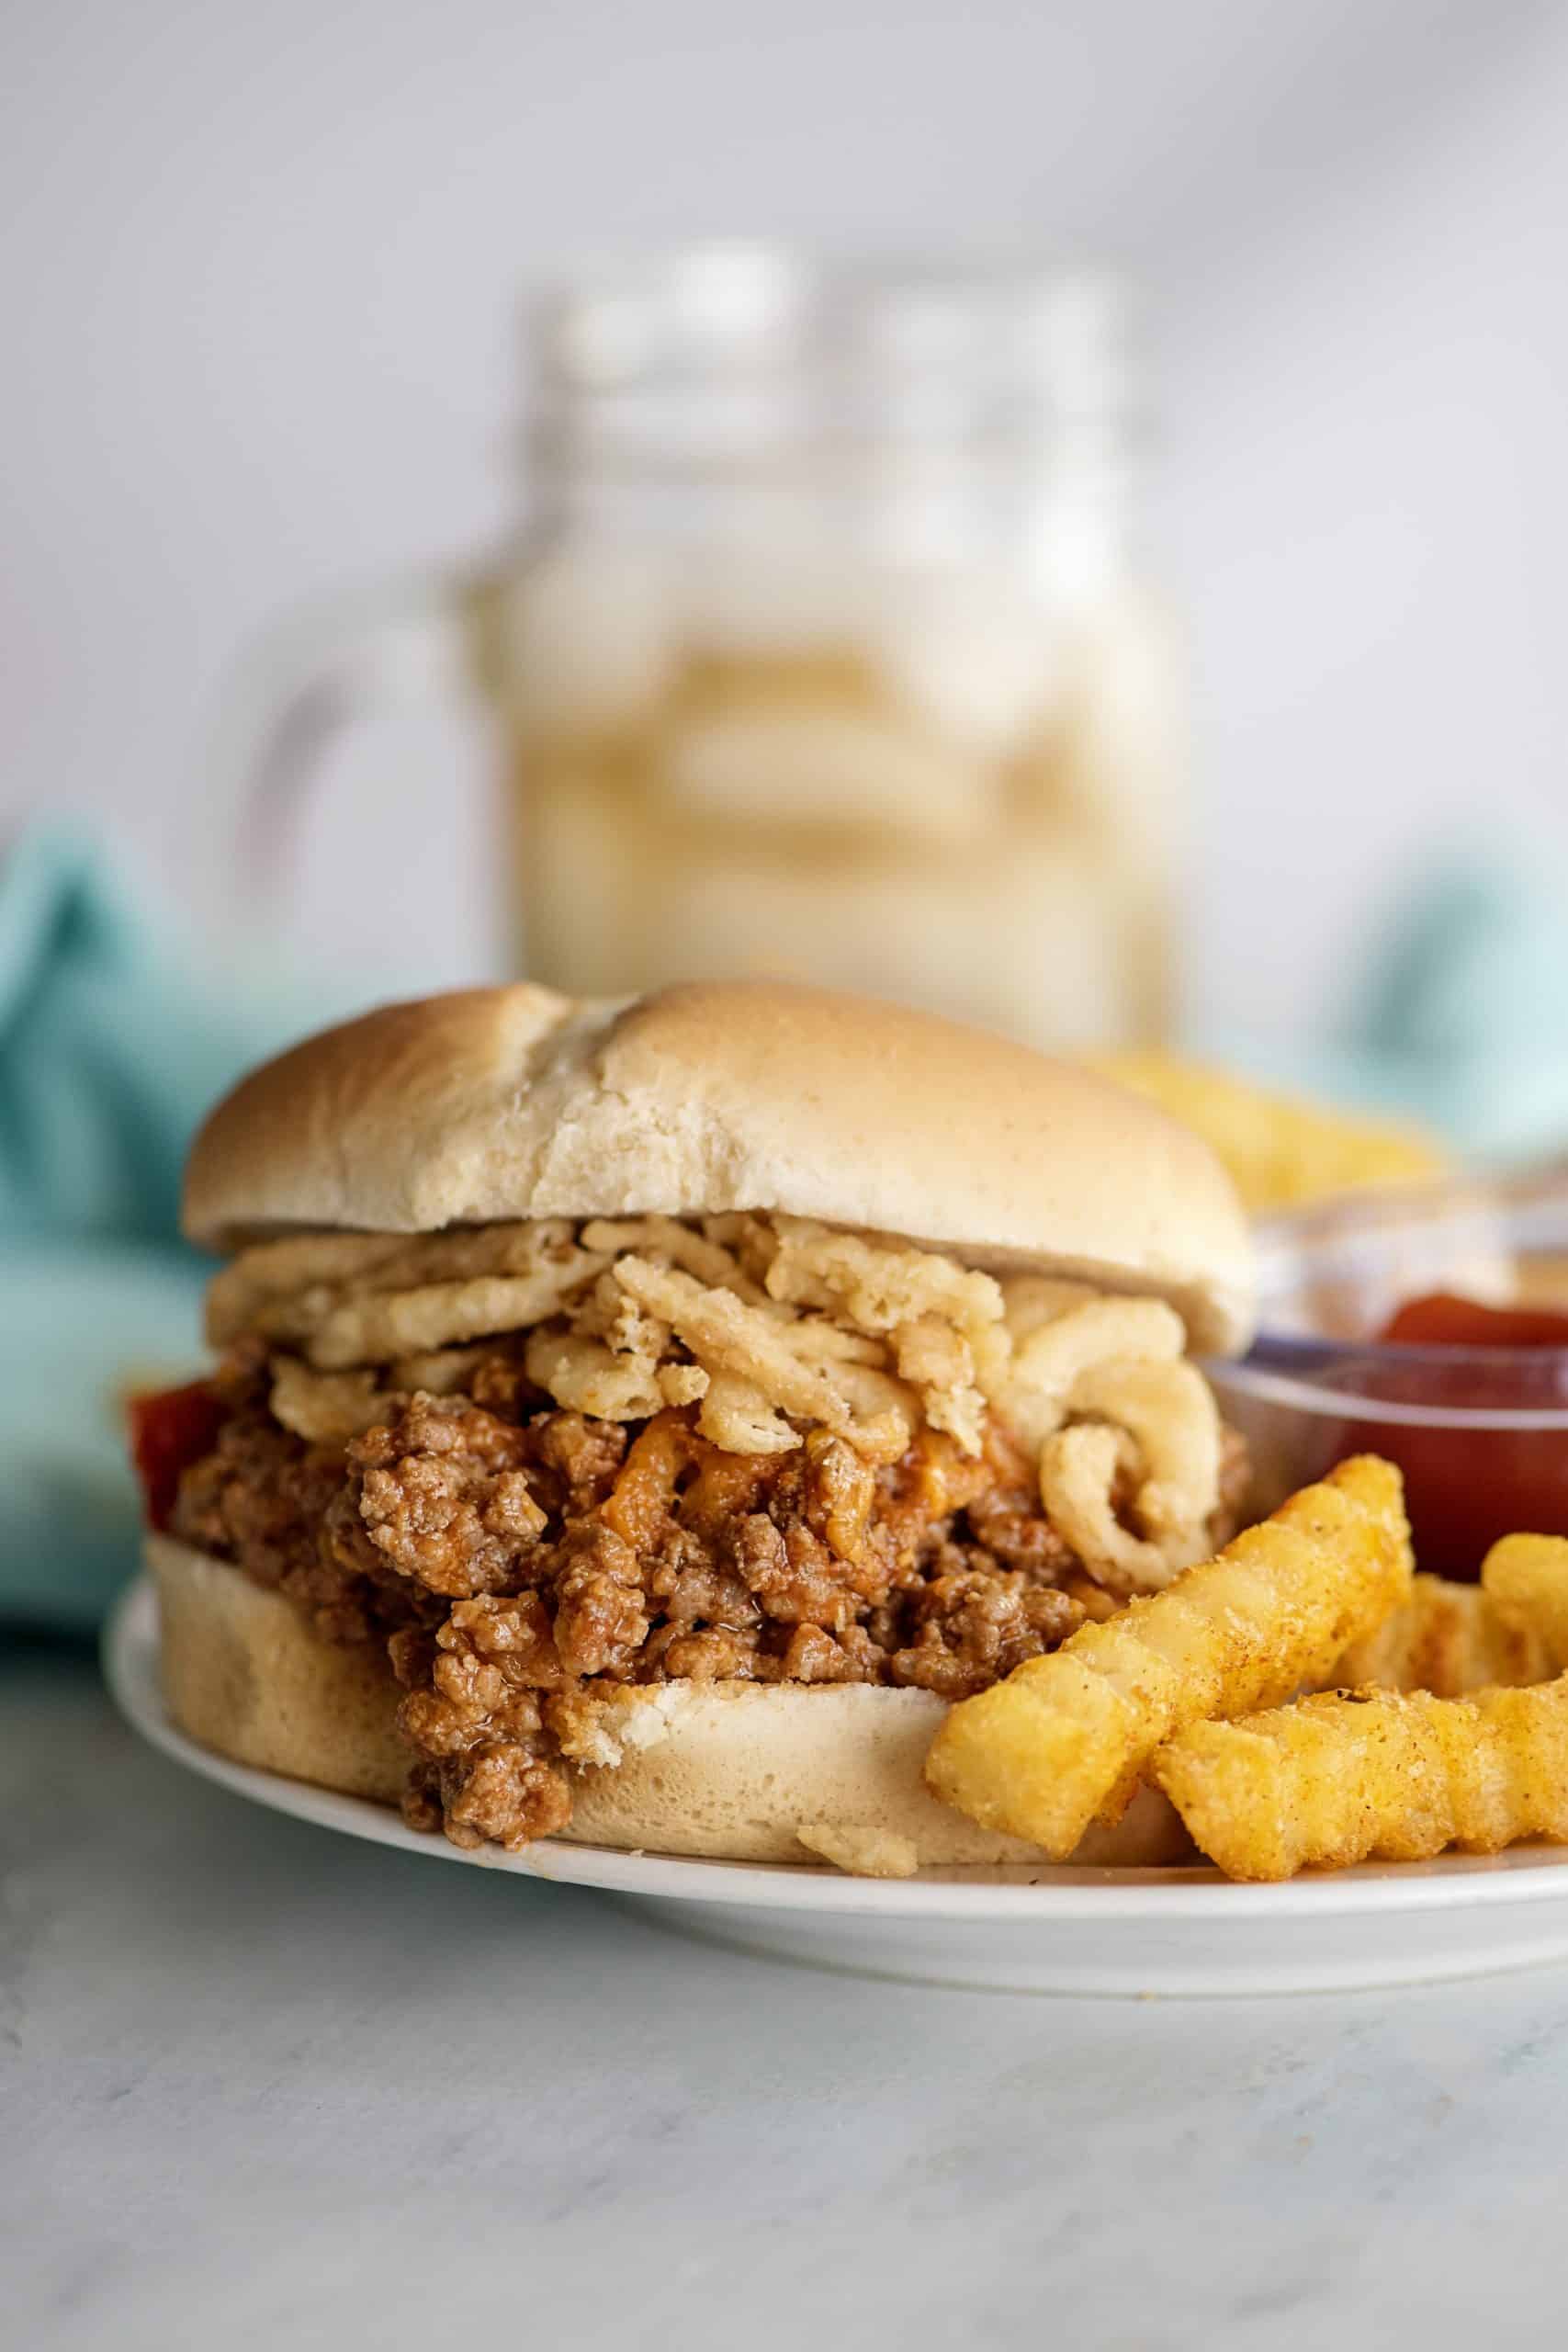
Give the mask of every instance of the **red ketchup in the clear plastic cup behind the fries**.
[{"label": "red ketchup in the clear plastic cup behind the fries", "polygon": [[[1410,1359],[1378,1390],[1403,1404],[1488,1411],[1568,1411],[1568,1315],[1486,1308],[1432,1291],[1408,1298],[1378,1334],[1403,1348],[1467,1350],[1443,1364]],[[1469,1350],[1490,1350],[1474,1355]],[[1528,1362],[1535,1352],[1537,1362]],[[1521,1362],[1526,1355],[1526,1362]],[[1406,1475],[1415,1564],[1474,1581],[1497,1536],[1568,1536],[1568,1430],[1403,1428],[1359,1423],[1347,1451],[1385,1454]]]}]

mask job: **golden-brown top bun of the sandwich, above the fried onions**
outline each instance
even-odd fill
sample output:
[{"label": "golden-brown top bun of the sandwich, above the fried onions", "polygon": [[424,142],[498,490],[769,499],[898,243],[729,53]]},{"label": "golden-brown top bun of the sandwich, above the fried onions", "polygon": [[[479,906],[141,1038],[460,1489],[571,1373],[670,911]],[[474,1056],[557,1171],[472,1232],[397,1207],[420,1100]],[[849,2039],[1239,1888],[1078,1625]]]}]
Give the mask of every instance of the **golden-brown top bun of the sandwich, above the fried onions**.
[{"label": "golden-brown top bun of the sandwich, above the fried onions", "polygon": [[299,1228],[729,1209],[1161,1296],[1199,1350],[1253,1329],[1246,1216],[1199,1136],[1006,1037],[785,981],[386,1004],[219,1103],[183,1225],[228,1251]]}]

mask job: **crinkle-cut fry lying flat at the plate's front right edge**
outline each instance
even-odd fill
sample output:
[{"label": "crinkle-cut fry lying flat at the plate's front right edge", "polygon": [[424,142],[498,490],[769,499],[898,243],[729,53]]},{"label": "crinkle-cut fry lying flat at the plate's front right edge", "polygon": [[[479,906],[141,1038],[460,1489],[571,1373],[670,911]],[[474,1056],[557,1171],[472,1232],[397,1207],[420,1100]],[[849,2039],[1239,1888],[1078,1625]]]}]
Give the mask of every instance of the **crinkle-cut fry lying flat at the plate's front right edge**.
[{"label": "crinkle-cut fry lying flat at the plate's front right edge", "polygon": [[1528,1691],[1324,1691],[1192,1724],[1150,1766],[1232,1879],[1568,1839],[1568,1677]]}]

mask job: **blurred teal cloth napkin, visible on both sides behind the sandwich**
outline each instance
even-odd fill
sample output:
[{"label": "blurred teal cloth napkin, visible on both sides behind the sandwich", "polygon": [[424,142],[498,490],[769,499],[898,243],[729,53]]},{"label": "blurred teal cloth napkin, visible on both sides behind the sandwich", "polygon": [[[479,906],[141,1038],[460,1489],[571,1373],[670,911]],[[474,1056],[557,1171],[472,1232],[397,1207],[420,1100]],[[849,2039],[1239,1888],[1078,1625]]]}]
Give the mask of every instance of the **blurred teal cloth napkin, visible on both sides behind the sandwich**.
[{"label": "blurred teal cloth napkin, visible on both sides behind the sandwich", "polygon": [[[1465,856],[1373,943],[1340,1030],[1258,1077],[1413,1112],[1476,1157],[1568,1145],[1568,938],[1547,861]],[[96,844],[24,835],[0,866],[0,1623],[89,1632],[136,1559],[129,1388],[202,1359],[209,1268],[176,1230],[207,1105],[374,990],[202,969]]]}]

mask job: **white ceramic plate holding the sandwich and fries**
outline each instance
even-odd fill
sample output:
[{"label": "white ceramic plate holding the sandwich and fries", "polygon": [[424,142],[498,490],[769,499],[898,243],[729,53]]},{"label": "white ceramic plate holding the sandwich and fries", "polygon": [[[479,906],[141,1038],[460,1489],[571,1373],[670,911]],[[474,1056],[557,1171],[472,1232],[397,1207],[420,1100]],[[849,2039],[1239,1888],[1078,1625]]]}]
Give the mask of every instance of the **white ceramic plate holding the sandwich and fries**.
[{"label": "white ceramic plate holding the sandwich and fries", "polygon": [[141,1581],[103,1635],[108,1686],[155,1748],[327,1830],[470,1870],[635,1898],[668,1926],[748,1952],[994,1992],[1234,1994],[1403,1985],[1568,1959],[1568,1849],[1363,1865],[1288,1886],[1213,1870],[922,1872],[849,1879],[788,1863],[691,1863],[548,1839],[463,1853],[388,1806],[230,1764],[174,1729],[158,1602]]}]

